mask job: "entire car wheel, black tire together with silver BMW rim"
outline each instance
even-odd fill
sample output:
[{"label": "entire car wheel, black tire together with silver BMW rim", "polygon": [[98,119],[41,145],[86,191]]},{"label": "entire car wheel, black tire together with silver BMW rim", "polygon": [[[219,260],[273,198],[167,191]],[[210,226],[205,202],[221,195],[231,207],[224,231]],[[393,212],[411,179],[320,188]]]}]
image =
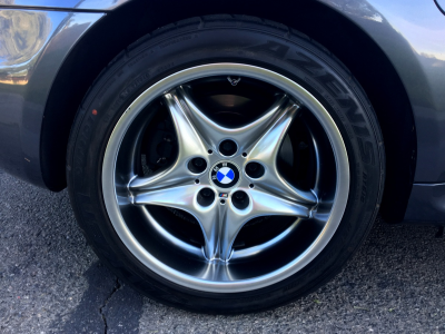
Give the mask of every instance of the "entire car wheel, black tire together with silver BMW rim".
[{"label": "entire car wheel, black tire together with silver BMW rim", "polygon": [[67,175],[81,229],[123,282],[230,314],[333,277],[373,225],[384,166],[370,104],[328,51],[212,16],[155,31],[102,71]]}]

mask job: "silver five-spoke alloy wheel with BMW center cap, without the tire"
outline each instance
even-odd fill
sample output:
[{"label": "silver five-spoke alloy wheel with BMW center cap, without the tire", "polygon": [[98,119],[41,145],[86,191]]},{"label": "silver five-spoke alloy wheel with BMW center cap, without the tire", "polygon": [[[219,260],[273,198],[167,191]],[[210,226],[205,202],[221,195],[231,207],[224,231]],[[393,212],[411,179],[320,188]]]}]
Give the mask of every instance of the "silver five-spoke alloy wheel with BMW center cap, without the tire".
[{"label": "silver five-spoke alloy wheel with BMW center cap, without the tire", "polygon": [[[154,168],[147,143],[159,119],[169,126],[157,147],[169,158]],[[297,82],[211,63],[135,97],[108,141],[102,190],[113,228],[146,267],[194,289],[247,292],[324,249],[346,207],[349,166],[335,121]]]}]

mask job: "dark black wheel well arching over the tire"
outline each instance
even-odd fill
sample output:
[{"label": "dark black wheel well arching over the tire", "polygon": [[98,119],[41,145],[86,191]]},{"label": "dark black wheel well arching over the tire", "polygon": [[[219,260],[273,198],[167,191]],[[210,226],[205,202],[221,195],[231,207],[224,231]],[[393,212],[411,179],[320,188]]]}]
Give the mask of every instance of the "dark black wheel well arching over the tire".
[{"label": "dark black wheel well arching over the tire", "polygon": [[283,10],[288,7],[289,1],[283,0],[276,0],[273,7],[261,1],[254,4],[234,0],[224,4],[130,1],[109,12],[73,47],[49,95],[41,135],[41,169],[48,188],[58,191],[66,187],[66,151],[77,109],[100,71],[121,50],[171,22],[236,11],[274,20],[308,35],[329,49],[357,78],[376,110],[385,140],[386,183],[380,213],[386,220],[402,220],[414,179],[416,135],[411,104],[398,75],[380,48],[332,8],[303,1],[293,3],[291,10]]}]

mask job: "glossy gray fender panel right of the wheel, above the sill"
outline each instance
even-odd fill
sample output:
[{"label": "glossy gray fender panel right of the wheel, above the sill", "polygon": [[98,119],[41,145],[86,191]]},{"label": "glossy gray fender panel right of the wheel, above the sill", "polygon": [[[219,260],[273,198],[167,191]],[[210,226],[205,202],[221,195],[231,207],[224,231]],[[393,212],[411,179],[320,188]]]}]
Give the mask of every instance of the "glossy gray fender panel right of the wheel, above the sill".
[{"label": "glossy gray fender panel right of the wheel, above the sill", "polygon": [[415,183],[445,181],[445,18],[433,1],[323,0],[367,32],[395,67],[417,131]]}]

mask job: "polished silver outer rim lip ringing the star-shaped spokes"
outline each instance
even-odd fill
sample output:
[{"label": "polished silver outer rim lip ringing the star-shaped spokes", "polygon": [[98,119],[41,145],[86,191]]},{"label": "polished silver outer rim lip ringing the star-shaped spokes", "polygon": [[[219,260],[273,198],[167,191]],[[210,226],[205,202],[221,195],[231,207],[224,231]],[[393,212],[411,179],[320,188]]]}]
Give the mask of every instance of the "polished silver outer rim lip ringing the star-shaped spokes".
[{"label": "polished silver outer rim lip ringing the star-shaped spokes", "polygon": [[[269,274],[248,279],[231,282],[206,281],[184,274],[167,266],[151,255],[132,235],[121,216],[116,194],[115,169],[117,156],[121,141],[137,115],[139,115],[149,102],[158,98],[161,94],[165,94],[184,82],[211,76],[250,77],[271,84],[284,90],[286,94],[296,97],[298,101],[306,106],[320,122],[329,139],[337,168],[334,205],[329,217],[326,220],[325,227],[317,238],[303,254],[287,265],[270,272]],[[305,88],[289,78],[265,68],[244,63],[220,62],[196,66],[178,71],[154,84],[136,98],[116,124],[108,140],[102,161],[101,180],[103,202],[116,233],[128,250],[146,267],[161,277],[184,287],[211,293],[240,293],[270,286],[294,275],[308,265],[326,247],[330,238],[334,236],[346,208],[349,193],[349,163],[346,146],[335,121],[324,106]],[[209,264],[209,266],[211,264]]]}]

